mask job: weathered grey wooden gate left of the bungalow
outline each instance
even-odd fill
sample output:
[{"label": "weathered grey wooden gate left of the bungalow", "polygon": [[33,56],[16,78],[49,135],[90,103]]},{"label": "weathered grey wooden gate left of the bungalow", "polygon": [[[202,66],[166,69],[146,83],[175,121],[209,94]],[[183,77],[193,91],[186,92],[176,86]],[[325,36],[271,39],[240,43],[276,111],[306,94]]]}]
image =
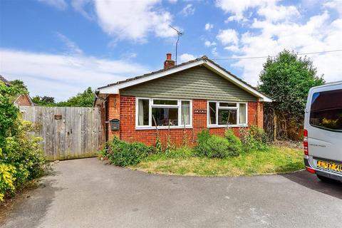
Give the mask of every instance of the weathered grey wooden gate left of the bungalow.
[{"label": "weathered grey wooden gate left of the bungalow", "polygon": [[48,160],[94,157],[103,147],[100,108],[21,106],[23,119],[41,125]]}]

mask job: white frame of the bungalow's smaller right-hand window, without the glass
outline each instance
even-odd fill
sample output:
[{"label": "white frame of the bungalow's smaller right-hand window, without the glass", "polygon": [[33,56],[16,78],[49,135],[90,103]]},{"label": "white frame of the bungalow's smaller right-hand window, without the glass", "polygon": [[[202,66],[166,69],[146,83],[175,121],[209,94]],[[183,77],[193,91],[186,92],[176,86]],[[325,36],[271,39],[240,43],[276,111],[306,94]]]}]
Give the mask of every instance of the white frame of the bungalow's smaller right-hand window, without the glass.
[{"label": "white frame of the bungalow's smaller right-hand window, without the glass", "polygon": [[[210,120],[209,103],[216,103],[216,123],[217,124],[209,124],[209,120]],[[219,103],[236,103],[237,107],[219,106]],[[240,112],[239,112],[240,104],[246,105],[246,123],[242,123],[242,124],[240,124]],[[237,110],[237,124],[219,125],[219,109]],[[227,127],[248,127],[248,103],[236,102],[236,101],[224,101],[224,100],[208,100],[207,101],[207,128],[227,128]]]}]

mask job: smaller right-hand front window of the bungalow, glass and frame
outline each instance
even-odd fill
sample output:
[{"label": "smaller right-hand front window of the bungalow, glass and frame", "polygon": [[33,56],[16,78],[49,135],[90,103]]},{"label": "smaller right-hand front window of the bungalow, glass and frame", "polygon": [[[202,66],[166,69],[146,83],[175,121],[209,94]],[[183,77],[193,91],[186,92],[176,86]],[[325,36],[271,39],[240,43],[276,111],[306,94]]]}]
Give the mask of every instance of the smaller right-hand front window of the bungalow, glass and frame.
[{"label": "smaller right-hand front window of the bungalow, glass and frame", "polygon": [[247,103],[208,102],[208,125],[247,125]]}]

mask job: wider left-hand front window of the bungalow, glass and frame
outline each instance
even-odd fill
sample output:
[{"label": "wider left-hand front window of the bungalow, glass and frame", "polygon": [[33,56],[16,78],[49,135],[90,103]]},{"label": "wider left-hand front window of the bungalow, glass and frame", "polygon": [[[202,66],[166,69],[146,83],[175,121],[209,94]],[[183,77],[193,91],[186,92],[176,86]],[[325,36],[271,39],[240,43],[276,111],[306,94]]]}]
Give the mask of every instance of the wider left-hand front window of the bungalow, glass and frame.
[{"label": "wider left-hand front window of the bungalow, glass and frame", "polygon": [[191,100],[137,98],[137,128],[191,127]]}]

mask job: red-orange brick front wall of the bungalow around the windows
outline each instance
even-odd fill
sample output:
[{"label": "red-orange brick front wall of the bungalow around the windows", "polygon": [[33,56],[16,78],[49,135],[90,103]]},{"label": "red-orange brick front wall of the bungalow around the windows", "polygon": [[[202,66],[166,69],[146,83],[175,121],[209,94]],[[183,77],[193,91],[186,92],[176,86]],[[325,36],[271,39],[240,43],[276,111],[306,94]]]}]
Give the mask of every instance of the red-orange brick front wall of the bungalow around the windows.
[{"label": "red-orange brick front wall of the bungalow around the windows", "polygon": [[[116,102],[116,105],[115,105]],[[135,97],[123,95],[110,95],[108,97],[109,120],[113,118],[120,119],[120,130],[110,130],[109,140],[114,135],[127,142],[144,142],[146,145],[155,145],[157,131],[135,130]],[[188,145],[194,145],[197,133],[207,128],[207,113],[194,113],[194,110],[207,110],[207,100],[192,100],[192,129],[159,129],[158,134],[162,143],[170,140],[176,146],[182,145],[186,141]],[[259,113],[257,113],[259,110]],[[248,103],[248,124],[258,125],[262,128],[262,103]],[[110,129],[110,128],[109,128]],[[225,128],[209,128],[209,133],[214,135],[224,135]],[[239,128],[232,128],[236,135],[239,135]]]}]

